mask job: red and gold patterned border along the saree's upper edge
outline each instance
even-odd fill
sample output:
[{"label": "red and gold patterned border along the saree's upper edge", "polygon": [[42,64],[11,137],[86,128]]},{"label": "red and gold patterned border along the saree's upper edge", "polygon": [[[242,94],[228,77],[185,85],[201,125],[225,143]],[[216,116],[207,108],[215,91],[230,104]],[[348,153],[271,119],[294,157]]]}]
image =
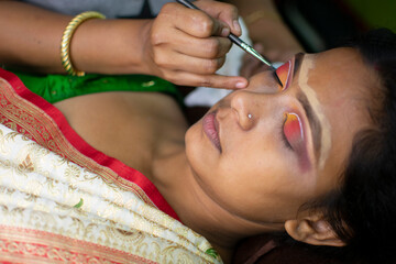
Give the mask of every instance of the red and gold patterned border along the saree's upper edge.
[{"label": "red and gold patterned border along the saree's upper edge", "polygon": [[133,191],[145,204],[179,220],[154,184],[142,173],[94,148],[73,130],[57,108],[30,91],[14,74],[2,68],[0,122],[98,174],[107,184]]}]

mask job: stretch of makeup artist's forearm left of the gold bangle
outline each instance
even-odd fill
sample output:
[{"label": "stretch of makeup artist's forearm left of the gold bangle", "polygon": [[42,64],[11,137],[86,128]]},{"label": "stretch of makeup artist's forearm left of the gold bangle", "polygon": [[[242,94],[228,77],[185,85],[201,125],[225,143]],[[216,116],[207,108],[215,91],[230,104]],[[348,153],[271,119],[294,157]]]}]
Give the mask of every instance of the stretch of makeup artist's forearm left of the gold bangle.
[{"label": "stretch of makeup artist's forearm left of the gold bangle", "polygon": [[69,20],[22,2],[0,1],[1,64],[63,73],[59,44]]}]

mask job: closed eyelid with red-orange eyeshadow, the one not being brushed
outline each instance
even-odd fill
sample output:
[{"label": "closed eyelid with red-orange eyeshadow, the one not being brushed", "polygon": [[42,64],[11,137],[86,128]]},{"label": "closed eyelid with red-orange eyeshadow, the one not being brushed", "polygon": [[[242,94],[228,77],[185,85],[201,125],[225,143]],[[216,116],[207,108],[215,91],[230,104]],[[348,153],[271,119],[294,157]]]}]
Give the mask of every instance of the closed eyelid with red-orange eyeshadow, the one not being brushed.
[{"label": "closed eyelid with red-orange eyeshadow, the one not being brushed", "polygon": [[284,113],[282,135],[288,148],[301,151],[304,147],[302,123],[296,113]]}]

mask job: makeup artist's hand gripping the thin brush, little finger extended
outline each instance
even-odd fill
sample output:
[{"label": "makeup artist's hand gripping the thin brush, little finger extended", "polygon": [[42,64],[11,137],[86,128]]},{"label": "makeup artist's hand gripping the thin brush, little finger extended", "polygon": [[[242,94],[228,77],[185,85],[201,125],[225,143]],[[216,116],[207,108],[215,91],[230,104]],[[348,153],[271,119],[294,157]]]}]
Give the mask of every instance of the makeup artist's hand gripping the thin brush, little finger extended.
[{"label": "makeup artist's hand gripping the thin brush, little finger extended", "polygon": [[227,36],[241,34],[238,10],[209,0],[194,3],[206,13],[168,3],[153,21],[145,48],[152,73],[176,85],[246,87],[243,77],[216,75],[231,47]]}]

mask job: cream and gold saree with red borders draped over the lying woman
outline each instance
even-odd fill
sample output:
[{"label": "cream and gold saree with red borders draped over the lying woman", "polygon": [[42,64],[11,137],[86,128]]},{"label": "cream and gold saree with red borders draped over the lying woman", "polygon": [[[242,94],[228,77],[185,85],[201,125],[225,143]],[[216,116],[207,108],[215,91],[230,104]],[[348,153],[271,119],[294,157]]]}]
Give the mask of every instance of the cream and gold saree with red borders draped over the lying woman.
[{"label": "cream and gold saree with red borders draped over the lying woman", "polygon": [[144,175],[1,68],[0,118],[1,262],[221,262]]}]

